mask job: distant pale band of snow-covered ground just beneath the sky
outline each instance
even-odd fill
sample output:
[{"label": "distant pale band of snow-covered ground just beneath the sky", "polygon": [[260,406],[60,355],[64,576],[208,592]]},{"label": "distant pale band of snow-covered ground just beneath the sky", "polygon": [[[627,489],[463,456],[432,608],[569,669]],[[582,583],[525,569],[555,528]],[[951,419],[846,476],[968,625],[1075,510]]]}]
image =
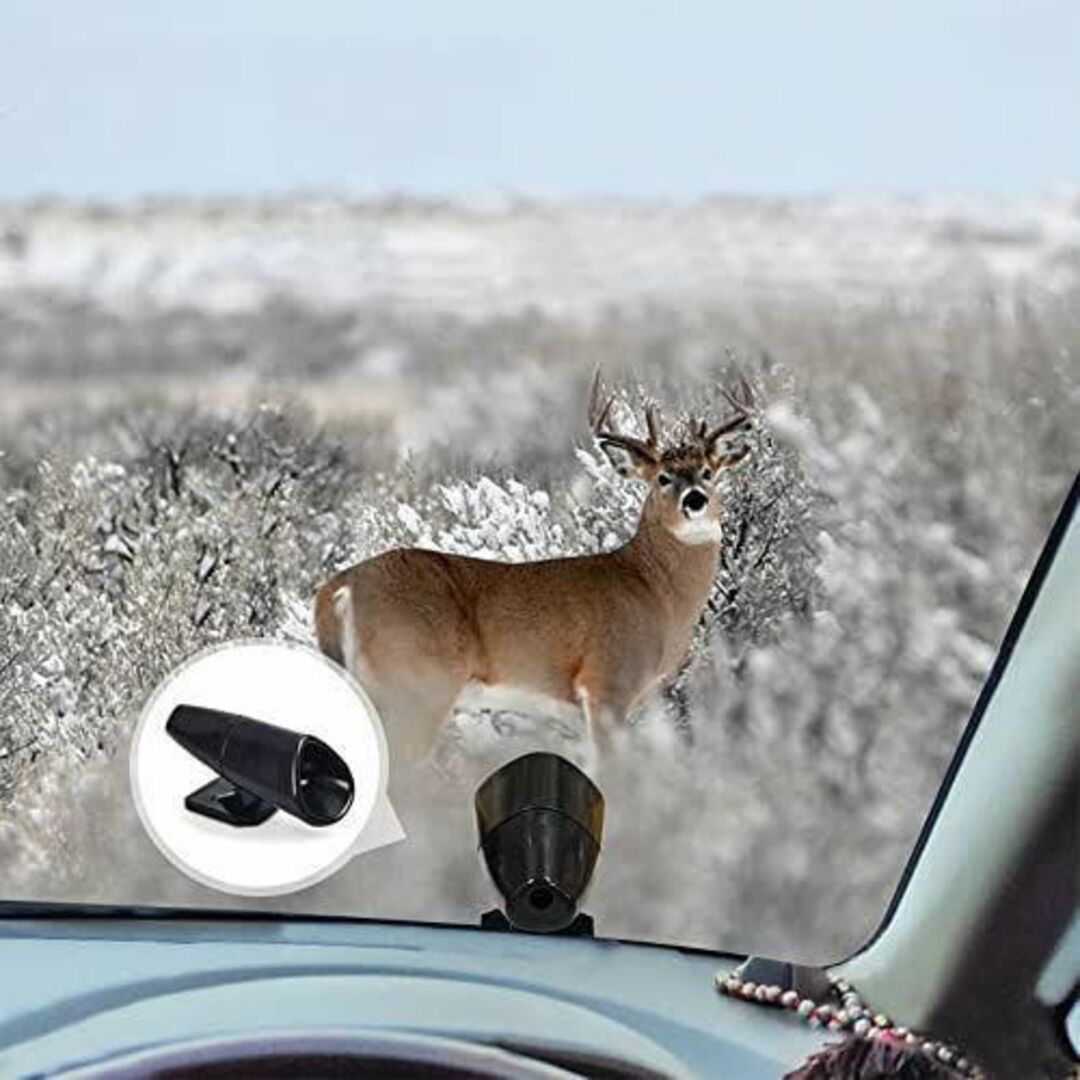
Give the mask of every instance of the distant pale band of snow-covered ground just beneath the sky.
[{"label": "distant pale band of snow-covered ground just beneath the sky", "polygon": [[125,312],[252,310],[278,296],[471,319],[643,300],[818,293],[955,298],[1080,281],[1080,193],[473,205],[296,198],[0,206],[0,294]]}]

